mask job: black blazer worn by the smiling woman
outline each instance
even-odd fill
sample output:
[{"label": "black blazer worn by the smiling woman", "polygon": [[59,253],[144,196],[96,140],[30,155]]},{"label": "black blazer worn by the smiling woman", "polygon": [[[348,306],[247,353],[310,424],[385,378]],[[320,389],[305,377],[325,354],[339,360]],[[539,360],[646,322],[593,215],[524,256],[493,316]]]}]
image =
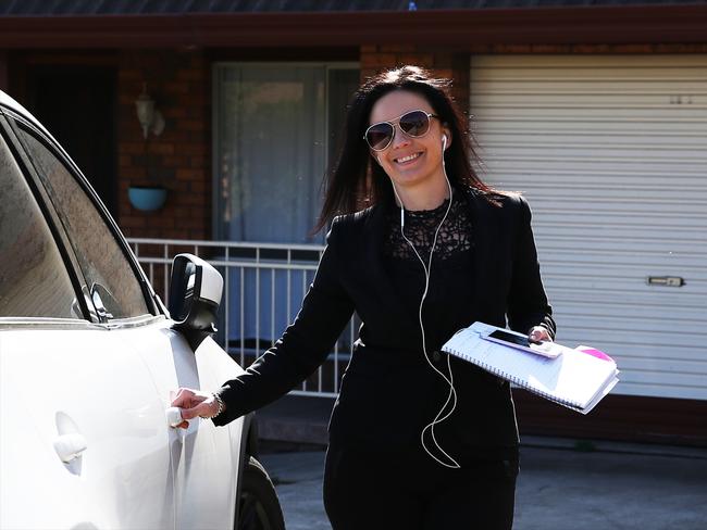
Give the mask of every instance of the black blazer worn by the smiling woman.
[{"label": "black blazer worn by the smiling woman", "polygon": [[[525,200],[499,195],[493,204],[471,189],[458,194],[468,202],[473,224],[474,295],[451,301],[460,307],[451,329],[482,320],[501,327],[508,323],[521,332],[542,325],[554,336]],[[331,440],[390,449],[419,443],[449,387],[424,359],[417,314],[402,307],[386,276],[381,252],[388,230],[385,211],[376,205],[334,219],[297,318],[245,375],[224,384],[226,411],[214,418],[216,425],[301,382],[324,362],[356,311],[363,324],[332,413]],[[448,338],[441,336],[432,349]],[[435,357],[446,371],[445,356]],[[458,404],[435,429],[445,451],[479,454],[517,446],[509,384],[457,358],[451,368]]]}]

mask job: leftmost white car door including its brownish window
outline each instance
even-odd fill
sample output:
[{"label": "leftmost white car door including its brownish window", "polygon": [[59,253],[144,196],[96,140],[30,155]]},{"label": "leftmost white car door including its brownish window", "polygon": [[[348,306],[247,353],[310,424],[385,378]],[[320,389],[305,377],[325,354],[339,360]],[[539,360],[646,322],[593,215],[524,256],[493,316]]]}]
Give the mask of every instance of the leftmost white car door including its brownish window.
[{"label": "leftmost white car door including its brownish window", "polygon": [[[162,403],[99,316],[72,244],[88,229],[64,226],[30,138],[53,156],[39,131],[0,115],[0,527],[174,528]],[[116,263],[131,293],[111,307],[117,321],[159,318]]]}]

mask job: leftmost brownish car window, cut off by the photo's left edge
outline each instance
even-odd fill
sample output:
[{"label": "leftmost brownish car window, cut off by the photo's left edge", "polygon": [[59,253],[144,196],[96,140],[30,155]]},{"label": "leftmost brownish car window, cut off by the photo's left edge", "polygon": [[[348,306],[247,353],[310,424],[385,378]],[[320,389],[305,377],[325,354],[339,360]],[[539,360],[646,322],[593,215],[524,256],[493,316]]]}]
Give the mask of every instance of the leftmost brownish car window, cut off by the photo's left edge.
[{"label": "leftmost brownish car window, cut off by the photo's left edge", "polygon": [[51,230],[0,137],[0,317],[83,318]]}]

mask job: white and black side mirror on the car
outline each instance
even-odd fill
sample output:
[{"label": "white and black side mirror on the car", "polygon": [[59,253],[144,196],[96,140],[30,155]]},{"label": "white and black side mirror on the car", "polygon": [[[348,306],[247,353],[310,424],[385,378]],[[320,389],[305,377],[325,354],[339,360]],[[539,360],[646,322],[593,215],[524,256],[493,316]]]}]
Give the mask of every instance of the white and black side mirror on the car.
[{"label": "white and black side mirror on the car", "polygon": [[194,254],[177,254],[172,262],[170,316],[174,328],[193,350],[216,332],[216,313],[223,294],[223,277]]}]

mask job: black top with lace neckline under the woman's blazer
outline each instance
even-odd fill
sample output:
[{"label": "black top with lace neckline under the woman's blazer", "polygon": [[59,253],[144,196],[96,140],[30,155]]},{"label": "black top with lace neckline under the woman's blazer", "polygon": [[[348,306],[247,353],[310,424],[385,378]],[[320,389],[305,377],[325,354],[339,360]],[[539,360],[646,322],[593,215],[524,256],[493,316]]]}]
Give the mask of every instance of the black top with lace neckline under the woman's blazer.
[{"label": "black top with lace neckline under the woman's blazer", "polygon": [[[448,201],[434,210],[406,211],[405,236],[417,249],[425,265],[435,230],[445,216]],[[400,232],[400,211],[388,213],[389,231],[383,244],[384,264],[388,278],[411,314],[417,315],[424,292],[425,275],[412,247]],[[451,209],[439,228],[432,256],[430,288],[423,306],[423,324],[427,351],[438,349],[463,323],[461,313],[473,289],[473,227],[469,206],[455,194]],[[419,328],[411,329],[420,333]]]}]

